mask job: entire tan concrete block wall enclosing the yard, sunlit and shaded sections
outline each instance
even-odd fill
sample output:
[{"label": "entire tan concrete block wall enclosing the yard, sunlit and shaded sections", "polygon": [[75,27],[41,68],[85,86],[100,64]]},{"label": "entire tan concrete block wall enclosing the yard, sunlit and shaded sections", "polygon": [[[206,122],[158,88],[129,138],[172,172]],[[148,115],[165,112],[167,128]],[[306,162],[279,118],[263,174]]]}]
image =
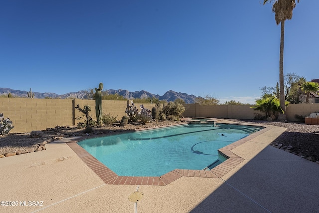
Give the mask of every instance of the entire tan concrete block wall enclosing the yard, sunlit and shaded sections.
[{"label": "entire tan concrete block wall enclosing the yard, sunlit and shaded sections", "polygon": [[[103,114],[117,116],[121,120],[125,114],[127,104],[131,101],[103,100]],[[29,99],[29,98],[0,98],[0,113],[5,118],[12,120],[14,128],[12,133],[31,132],[33,130],[43,130],[55,126],[74,126],[79,122],[84,122],[79,110],[74,107],[79,104],[91,107],[90,115],[95,116],[95,100],[81,99]],[[136,104],[140,111],[140,104]],[[145,108],[152,109],[155,104],[143,104]],[[164,105],[163,105],[164,106]],[[183,104],[185,107],[184,117],[210,117],[229,119],[253,119],[254,113],[261,113],[250,108],[252,105],[216,105],[201,106],[199,104]],[[295,115],[309,115],[319,112],[319,104],[290,104],[286,108],[288,121],[298,121]]]}]

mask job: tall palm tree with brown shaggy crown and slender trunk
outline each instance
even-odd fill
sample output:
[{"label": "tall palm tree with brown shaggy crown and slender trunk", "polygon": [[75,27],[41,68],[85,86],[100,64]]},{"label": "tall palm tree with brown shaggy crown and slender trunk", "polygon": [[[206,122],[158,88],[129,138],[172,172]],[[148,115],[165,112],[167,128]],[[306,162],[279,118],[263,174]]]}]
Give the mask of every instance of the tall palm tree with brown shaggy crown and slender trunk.
[{"label": "tall palm tree with brown shaggy crown and slender trunk", "polygon": [[[273,12],[275,13],[276,24],[281,23],[280,29],[280,54],[279,54],[279,88],[280,88],[280,107],[283,114],[280,114],[278,120],[287,120],[285,107],[285,91],[284,91],[284,34],[285,20],[290,20],[293,16],[293,9],[296,6],[296,0],[264,0],[273,3]],[[297,0],[299,3],[299,0]]]}]

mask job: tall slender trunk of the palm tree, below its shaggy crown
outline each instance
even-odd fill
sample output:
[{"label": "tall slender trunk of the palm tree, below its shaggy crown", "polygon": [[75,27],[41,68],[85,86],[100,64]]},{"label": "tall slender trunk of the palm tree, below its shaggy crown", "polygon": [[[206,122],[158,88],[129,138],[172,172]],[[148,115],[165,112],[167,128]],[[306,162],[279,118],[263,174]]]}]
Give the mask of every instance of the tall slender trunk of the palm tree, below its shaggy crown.
[{"label": "tall slender trunk of the palm tree, below its shaggy crown", "polygon": [[278,120],[287,120],[285,107],[285,89],[284,89],[284,34],[285,34],[285,20],[281,21],[280,30],[280,54],[279,54],[279,89],[280,89],[280,107],[284,111],[279,114]]}]

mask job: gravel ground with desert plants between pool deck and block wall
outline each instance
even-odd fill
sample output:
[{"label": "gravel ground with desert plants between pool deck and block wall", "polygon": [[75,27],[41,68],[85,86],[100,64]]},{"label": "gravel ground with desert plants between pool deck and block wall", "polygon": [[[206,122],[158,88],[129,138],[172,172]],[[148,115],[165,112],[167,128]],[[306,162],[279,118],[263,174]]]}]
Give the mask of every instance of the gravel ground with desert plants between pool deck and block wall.
[{"label": "gravel ground with desert plants between pool deck and block wall", "polygon": [[[306,125],[303,123],[279,122],[279,121],[257,121],[257,120],[234,120],[238,123],[268,124],[273,126],[285,127],[287,130],[281,134],[272,146],[285,149],[288,152],[302,156],[311,161],[319,161],[319,126]],[[133,129],[143,129],[156,126],[173,125],[182,122],[177,121],[159,121],[146,124],[128,124],[126,127],[119,127],[118,124],[94,128],[92,134],[107,134]],[[42,131],[43,136],[31,138],[30,133],[10,134],[0,136],[0,154],[34,152],[39,148],[43,141],[53,141],[61,137],[82,136],[85,135],[84,129],[76,127],[56,127]],[[60,137],[60,138],[58,138]]]}]

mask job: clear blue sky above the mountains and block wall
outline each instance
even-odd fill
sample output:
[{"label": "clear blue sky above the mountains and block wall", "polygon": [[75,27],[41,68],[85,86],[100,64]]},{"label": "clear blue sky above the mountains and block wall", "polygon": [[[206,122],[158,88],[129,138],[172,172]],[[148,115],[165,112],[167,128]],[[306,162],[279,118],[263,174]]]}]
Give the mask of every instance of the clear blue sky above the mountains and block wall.
[{"label": "clear blue sky above the mountains and block wall", "polygon": [[[254,103],[279,80],[263,0],[0,0],[0,87],[168,90]],[[284,74],[319,78],[319,0],[285,23]]]}]

